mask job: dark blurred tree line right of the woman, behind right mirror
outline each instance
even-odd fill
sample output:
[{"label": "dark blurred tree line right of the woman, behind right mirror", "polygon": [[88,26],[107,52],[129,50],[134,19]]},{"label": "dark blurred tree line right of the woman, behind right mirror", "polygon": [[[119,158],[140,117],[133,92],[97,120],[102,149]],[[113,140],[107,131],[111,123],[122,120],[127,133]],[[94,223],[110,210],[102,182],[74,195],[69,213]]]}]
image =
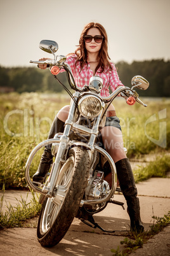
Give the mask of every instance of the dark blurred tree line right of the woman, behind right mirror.
[{"label": "dark blurred tree line right of the woman, behind right mirror", "polygon": [[140,90],[140,96],[170,97],[170,60],[134,61],[131,64],[118,62],[116,66],[122,83],[128,87],[135,75],[141,75],[148,80],[150,86],[146,92]]}]

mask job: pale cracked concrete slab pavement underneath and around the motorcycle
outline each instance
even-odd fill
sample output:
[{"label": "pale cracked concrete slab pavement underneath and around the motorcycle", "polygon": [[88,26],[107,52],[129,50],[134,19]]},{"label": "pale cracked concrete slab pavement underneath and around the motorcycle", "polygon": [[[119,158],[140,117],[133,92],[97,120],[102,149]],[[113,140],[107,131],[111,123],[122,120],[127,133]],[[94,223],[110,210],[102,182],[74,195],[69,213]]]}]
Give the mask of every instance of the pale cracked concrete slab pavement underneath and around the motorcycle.
[{"label": "pale cracked concrete slab pavement underneath and around the motorcycle", "polygon": [[[169,181],[169,178],[152,178],[136,184],[140,198],[141,220],[143,220],[145,230],[154,222],[152,219],[153,215],[162,217],[170,210]],[[2,194],[0,195],[2,196]],[[6,200],[6,203],[10,202],[15,205],[18,202],[15,197],[20,200],[21,195],[25,199],[27,197],[27,192],[18,192],[15,190],[6,191],[4,199]],[[28,200],[30,200],[31,197],[32,194],[29,193]],[[122,201],[126,208],[124,196],[116,194],[114,199]],[[36,229],[5,229],[0,233],[0,255],[42,255],[42,253],[46,253],[46,255],[61,256],[111,256],[113,253],[110,252],[110,249],[117,249],[117,246],[119,246],[119,249],[122,250],[123,246],[120,245],[120,241],[124,239],[130,224],[127,211],[123,210],[121,206],[108,204],[105,210],[95,215],[95,221],[108,231],[114,229],[118,230],[118,232],[112,234],[102,232],[99,229],[93,230],[91,227],[88,227],[75,218],[69,231],[57,246],[53,248],[42,248],[36,239]],[[119,232],[120,230],[121,232]],[[162,234],[162,239],[164,236],[167,236],[167,232]],[[148,252],[150,251],[148,250]],[[145,255],[150,254],[145,253]],[[159,253],[157,255],[166,254]]]}]

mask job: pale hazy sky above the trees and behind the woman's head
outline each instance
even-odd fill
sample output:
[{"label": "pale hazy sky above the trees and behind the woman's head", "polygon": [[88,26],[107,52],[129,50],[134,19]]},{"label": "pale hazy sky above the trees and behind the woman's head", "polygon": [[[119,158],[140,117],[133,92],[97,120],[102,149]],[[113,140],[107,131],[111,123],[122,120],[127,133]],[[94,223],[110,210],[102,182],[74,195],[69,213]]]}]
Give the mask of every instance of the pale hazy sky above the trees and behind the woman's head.
[{"label": "pale hazy sky above the trees and behind the woman's head", "polygon": [[51,57],[42,39],[58,43],[58,55],[74,52],[84,25],[99,22],[108,53],[119,61],[170,60],[170,0],[0,0],[0,66],[34,66]]}]

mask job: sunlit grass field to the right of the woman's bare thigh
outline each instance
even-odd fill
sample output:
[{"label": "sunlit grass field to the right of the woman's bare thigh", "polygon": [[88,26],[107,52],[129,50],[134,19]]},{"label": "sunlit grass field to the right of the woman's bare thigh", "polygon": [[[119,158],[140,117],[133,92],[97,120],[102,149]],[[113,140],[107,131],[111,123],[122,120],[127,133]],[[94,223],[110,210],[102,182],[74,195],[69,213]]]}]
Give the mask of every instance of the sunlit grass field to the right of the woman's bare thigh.
[{"label": "sunlit grass field to the right of the woman's bare thigh", "polygon": [[[124,146],[128,148],[128,157],[138,158],[143,154],[165,152],[170,148],[170,100],[142,100],[144,103],[148,104],[147,108],[140,104],[126,106],[122,101],[118,101],[115,104],[117,116],[121,118]],[[159,119],[159,114],[161,117],[160,111],[162,110],[166,111],[166,117]],[[147,124],[150,117],[154,115],[156,120]],[[166,131],[164,131],[163,134],[164,136],[166,135],[165,148],[162,148],[160,145],[150,140],[151,138],[159,141],[159,130],[160,126],[162,127],[162,125],[164,125],[163,122],[166,122]],[[159,142],[162,143],[161,139]]]}]

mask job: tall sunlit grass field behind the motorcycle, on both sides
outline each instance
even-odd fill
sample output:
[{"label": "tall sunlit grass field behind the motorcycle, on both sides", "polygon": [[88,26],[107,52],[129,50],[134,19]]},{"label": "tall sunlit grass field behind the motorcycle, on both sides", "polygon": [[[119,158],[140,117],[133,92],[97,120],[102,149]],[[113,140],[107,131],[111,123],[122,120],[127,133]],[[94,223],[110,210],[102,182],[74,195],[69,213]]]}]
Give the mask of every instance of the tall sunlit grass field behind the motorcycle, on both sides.
[{"label": "tall sunlit grass field behind the motorcycle, on both sides", "polygon": [[[150,101],[143,99],[148,104],[144,108],[140,104],[128,106],[123,99],[115,100],[117,116],[121,119],[124,146],[128,148],[128,157],[140,158],[143,154],[165,154],[170,148],[170,101]],[[70,97],[66,94],[1,94],[0,97],[0,188],[5,184],[8,188],[23,188],[25,182],[25,163],[31,150],[41,141],[48,138],[48,132],[58,110],[66,104],[70,104]],[[145,134],[145,122],[152,115],[166,109],[166,139],[167,146],[162,148],[148,139],[150,136],[159,139],[159,122],[148,124]],[[42,151],[40,151],[32,163],[30,174],[35,173]],[[161,164],[164,162],[164,165]],[[165,162],[169,166],[168,159],[159,160],[159,171],[164,176]],[[154,166],[154,163],[152,164]],[[154,173],[157,173],[156,167]],[[168,167],[169,168],[169,167]],[[161,169],[161,170],[160,170]],[[167,169],[167,166],[166,166]],[[147,175],[144,175],[148,172]],[[155,175],[152,173],[152,176]],[[150,171],[141,168],[135,174],[136,181],[150,178]],[[144,177],[145,176],[145,177]]]}]

